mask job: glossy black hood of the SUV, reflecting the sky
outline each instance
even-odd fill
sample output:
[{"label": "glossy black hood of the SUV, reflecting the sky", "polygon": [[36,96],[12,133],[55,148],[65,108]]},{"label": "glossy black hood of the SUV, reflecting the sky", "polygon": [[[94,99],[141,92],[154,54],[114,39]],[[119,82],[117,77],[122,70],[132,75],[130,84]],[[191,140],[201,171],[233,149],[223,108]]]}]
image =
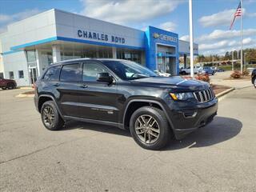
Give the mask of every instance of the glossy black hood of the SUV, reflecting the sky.
[{"label": "glossy black hood of the SUV, reflecting the sky", "polygon": [[184,89],[184,90],[205,90],[210,87],[208,82],[202,82],[194,79],[174,77],[150,77],[138,78],[134,83],[146,83],[147,86],[158,86],[162,88]]}]

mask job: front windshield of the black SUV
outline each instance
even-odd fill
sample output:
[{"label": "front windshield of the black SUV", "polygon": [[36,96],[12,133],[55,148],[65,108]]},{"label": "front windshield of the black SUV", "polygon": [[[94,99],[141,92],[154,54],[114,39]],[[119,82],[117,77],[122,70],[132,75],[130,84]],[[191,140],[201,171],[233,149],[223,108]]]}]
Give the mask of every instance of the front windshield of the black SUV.
[{"label": "front windshield of the black SUV", "polygon": [[149,78],[158,76],[153,71],[136,62],[130,61],[103,61],[122,80],[133,80],[137,78]]}]

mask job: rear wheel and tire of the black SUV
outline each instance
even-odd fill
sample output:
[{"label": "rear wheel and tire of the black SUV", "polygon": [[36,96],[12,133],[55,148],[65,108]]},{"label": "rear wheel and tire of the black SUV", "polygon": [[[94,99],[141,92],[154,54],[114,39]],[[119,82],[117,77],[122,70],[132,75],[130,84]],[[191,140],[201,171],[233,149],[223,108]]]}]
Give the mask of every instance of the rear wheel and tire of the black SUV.
[{"label": "rear wheel and tire of the black SUV", "polygon": [[60,130],[64,125],[64,121],[53,101],[44,102],[41,108],[42,123],[47,130]]}]

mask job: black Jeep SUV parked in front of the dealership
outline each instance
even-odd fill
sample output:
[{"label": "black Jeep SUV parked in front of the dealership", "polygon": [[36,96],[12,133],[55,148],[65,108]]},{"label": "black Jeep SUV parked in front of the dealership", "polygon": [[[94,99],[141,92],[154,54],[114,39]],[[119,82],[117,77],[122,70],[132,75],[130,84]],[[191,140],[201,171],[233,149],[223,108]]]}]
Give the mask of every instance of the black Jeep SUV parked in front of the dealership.
[{"label": "black Jeep SUV parked in front of the dealership", "polygon": [[218,99],[206,82],[160,77],[135,62],[75,59],[46,70],[35,85],[35,106],[49,130],[66,120],[130,129],[143,148],[158,150],[211,122]]}]

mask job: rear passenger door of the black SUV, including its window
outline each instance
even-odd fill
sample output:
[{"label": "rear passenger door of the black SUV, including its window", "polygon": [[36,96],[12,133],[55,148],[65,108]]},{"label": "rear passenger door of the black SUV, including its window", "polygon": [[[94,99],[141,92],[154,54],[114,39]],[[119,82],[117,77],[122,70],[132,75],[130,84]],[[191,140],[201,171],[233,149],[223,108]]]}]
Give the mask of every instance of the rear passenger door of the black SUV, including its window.
[{"label": "rear passenger door of the black SUV, including its window", "polygon": [[62,66],[59,82],[54,86],[57,87],[59,94],[58,106],[60,106],[64,116],[79,116],[78,86],[81,79],[81,64],[79,62]]}]

